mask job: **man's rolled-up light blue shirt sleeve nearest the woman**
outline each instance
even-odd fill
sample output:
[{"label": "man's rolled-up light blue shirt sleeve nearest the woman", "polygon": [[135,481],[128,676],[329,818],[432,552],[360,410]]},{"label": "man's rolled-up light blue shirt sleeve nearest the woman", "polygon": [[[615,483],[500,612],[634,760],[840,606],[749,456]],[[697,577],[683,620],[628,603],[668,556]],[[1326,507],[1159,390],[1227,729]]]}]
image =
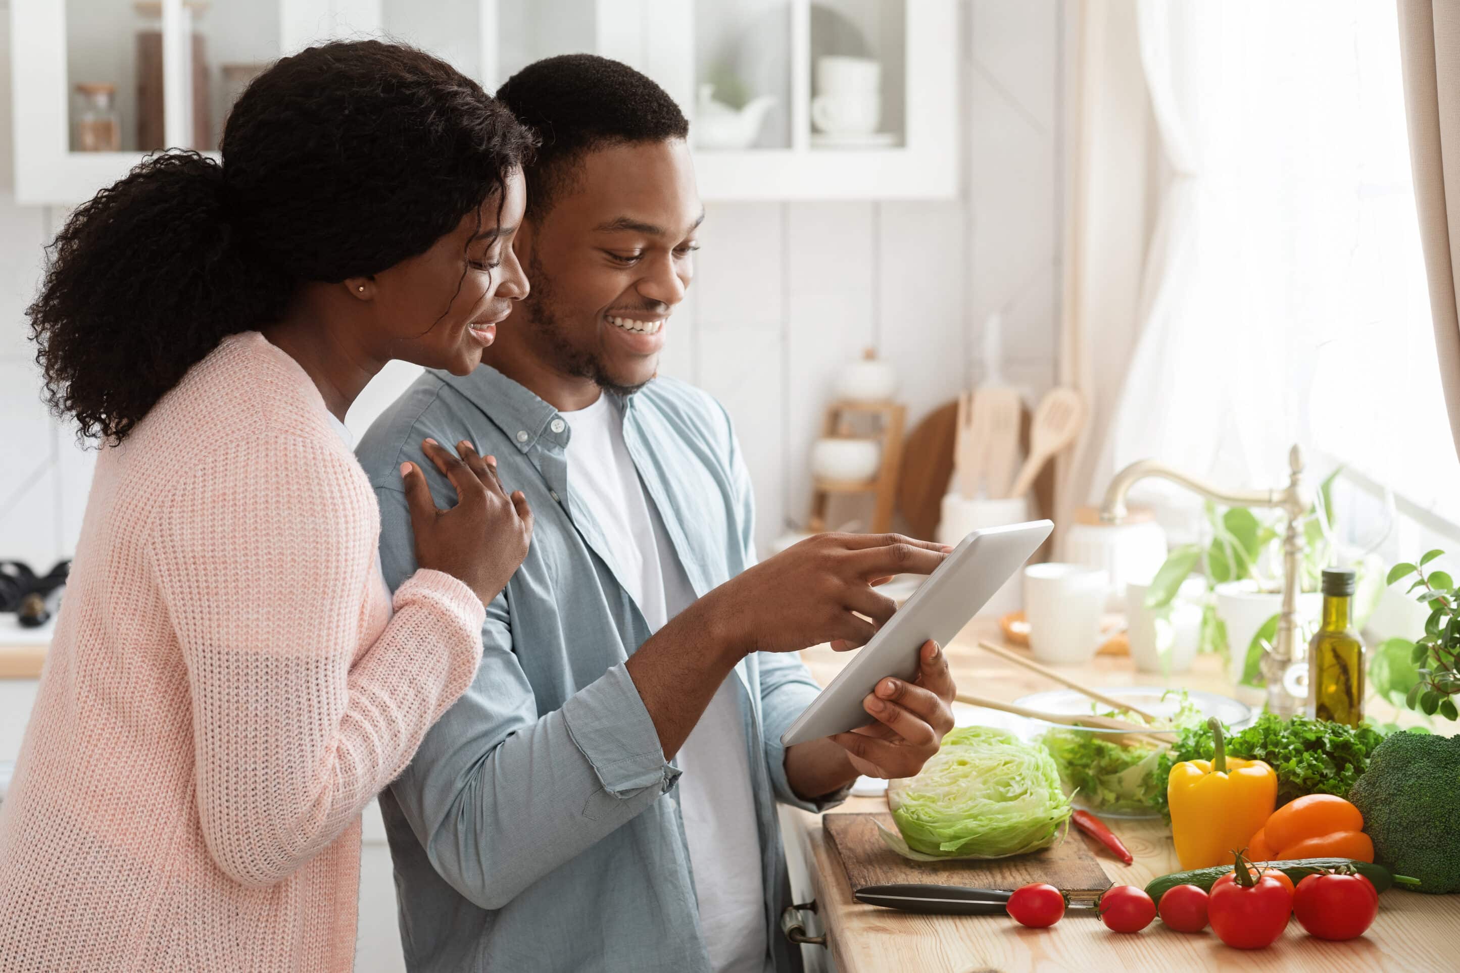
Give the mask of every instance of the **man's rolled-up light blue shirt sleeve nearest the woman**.
[{"label": "man's rolled-up light blue shirt sleeve nearest the woman", "polygon": [[[404,496],[377,489],[388,584],[415,569]],[[512,652],[510,591],[486,610],[482,662],[391,792],[437,872],[501,909],[669,791],[679,770],[625,667],[539,713]]]}]

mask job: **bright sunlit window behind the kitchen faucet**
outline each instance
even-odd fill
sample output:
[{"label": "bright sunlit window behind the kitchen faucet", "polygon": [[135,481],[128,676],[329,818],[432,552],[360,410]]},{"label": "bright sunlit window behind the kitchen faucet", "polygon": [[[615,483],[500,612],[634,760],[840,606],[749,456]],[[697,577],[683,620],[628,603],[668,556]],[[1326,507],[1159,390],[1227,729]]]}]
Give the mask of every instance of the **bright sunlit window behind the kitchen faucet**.
[{"label": "bright sunlit window behind the kitchen faucet", "polygon": [[[1129,379],[1169,389],[1161,414],[1129,420],[1145,455],[1278,484],[1301,442],[1310,483],[1343,464],[1369,492],[1460,524],[1393,6],[1172,10],[1174,98],[1197,172],[1188,260],[1159,309],[1164,352]],[[1375,505],[1353,508],[1372,518]]]}]

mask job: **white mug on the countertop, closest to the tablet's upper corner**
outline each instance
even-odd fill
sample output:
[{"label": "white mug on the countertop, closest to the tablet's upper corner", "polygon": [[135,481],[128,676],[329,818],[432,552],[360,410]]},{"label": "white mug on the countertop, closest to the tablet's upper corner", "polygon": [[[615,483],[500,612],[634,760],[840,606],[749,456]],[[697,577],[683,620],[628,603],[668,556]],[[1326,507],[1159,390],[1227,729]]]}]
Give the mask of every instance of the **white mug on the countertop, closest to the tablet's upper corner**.
[{"label": "white mug on the countertop, closest to the tablet's upper corner", "polygon": [[1079,665],[1099,648],[1110,576],[1080,565],[1029,565],[1023,569],[1023,617],[1029,649],[1041,662]]}]

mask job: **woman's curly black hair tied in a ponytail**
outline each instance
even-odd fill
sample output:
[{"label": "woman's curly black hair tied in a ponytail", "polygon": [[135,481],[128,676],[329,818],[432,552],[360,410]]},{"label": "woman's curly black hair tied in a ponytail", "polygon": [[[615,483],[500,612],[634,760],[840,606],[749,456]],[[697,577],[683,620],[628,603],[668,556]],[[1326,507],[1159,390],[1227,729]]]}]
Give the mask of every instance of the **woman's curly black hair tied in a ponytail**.
[{"label": "woman's curly black hair tied in a ponytail", "polygon": [[168,152],[74,210],[26,309],[45,400],[121,442],[229,334],[304,282],[422,254],[531,155],[482,86],[410,47],[311,47],[260,74],[222,163]]}]

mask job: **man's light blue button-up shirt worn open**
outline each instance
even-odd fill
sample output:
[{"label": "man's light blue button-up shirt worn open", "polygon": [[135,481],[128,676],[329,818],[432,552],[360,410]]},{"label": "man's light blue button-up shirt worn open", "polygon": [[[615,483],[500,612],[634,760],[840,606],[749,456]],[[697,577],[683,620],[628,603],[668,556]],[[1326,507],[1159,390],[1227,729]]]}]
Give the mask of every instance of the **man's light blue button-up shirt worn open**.
[{"label": "man's light blue button-up shirt worn open", "polygon": [[[702,597],[755,563],[750,480],[724,408],[654,379],[623,403],[623,439]],[[708,970],[679,795],[628,656],[650,637],[587,505],[574,503],[571,422],[501,372],[426,372],[361,441],[391,588],[416,567],[400,464],[456,502],[420,441],[470,441],[536,515],[527,560],[488,605],[482,667],[381,795],[412,970]],[[736,665],[765,881],[768,964],[799,963],[780,934],[787,878],[775,801],[781,734],[816,696],[794,655]],[[712,877],[711,877],[712,881]]]}]

